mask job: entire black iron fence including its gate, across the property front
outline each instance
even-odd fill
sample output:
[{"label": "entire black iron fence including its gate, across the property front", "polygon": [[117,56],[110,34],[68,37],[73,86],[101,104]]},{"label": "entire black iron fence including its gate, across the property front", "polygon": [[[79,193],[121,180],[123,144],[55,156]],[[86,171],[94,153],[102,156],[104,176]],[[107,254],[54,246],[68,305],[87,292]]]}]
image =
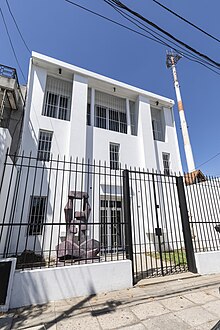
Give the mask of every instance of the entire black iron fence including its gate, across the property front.
[{"label": "entire black iron fence including its gate, across the property front", "polygon": [[130,259],[138,280],[196,272],[194,252],[220,248],[217,179],[24,154],[0,177],[0,258],[17,268]]}]

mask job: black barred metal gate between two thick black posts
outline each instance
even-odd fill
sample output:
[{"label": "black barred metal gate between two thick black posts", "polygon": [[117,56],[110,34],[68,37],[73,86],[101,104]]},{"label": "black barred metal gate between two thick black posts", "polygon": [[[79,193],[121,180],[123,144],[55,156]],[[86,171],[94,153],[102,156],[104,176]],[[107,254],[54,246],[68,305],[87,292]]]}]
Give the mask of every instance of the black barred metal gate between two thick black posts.
[{"label": "black barred metal gate between two thick black posts", "polygon": [[195,271],[182,177],[124,171],[124,213],[135,281]]}]

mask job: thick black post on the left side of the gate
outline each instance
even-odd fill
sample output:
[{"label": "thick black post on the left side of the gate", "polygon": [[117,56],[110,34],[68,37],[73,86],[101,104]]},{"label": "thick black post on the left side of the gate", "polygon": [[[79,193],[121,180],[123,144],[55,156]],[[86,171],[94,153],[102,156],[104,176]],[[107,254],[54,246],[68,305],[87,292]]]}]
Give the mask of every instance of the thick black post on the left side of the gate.
[{"label": "thick black post on the left side of the gate", "polygon": [[133,284],[134,284],[132,226],[131,226],[131,203],[130,203],[129,171],[128,170],[123,171],[123,208],[124,208],[124,223],[125,223],[126,258],[131,260],[132,280],[133,280]]}]

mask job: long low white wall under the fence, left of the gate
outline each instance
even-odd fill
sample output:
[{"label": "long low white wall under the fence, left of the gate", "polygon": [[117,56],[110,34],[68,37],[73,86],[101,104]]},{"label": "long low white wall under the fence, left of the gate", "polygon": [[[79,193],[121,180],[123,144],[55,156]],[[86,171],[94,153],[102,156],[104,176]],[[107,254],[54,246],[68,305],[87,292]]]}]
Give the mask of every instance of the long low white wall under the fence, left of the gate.
[{"label": "long low white wall under the fence, left of the gate", "polygon": [[10,308],[130,287],[130,260],[16,271]]}]

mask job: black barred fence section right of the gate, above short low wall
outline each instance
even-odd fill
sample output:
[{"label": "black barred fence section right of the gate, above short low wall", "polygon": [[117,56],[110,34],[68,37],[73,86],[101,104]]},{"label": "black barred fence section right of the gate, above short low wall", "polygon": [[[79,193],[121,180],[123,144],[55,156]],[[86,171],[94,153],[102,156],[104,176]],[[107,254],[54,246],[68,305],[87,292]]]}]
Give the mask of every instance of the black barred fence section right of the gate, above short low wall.
[{"label": "black barred fence section right of the gate, above short low wall", "polygon": [[[187,182],[195,182],[193,174]],[[220,179],[202,177],[185,186],[194,252],[220,250]]]}]

